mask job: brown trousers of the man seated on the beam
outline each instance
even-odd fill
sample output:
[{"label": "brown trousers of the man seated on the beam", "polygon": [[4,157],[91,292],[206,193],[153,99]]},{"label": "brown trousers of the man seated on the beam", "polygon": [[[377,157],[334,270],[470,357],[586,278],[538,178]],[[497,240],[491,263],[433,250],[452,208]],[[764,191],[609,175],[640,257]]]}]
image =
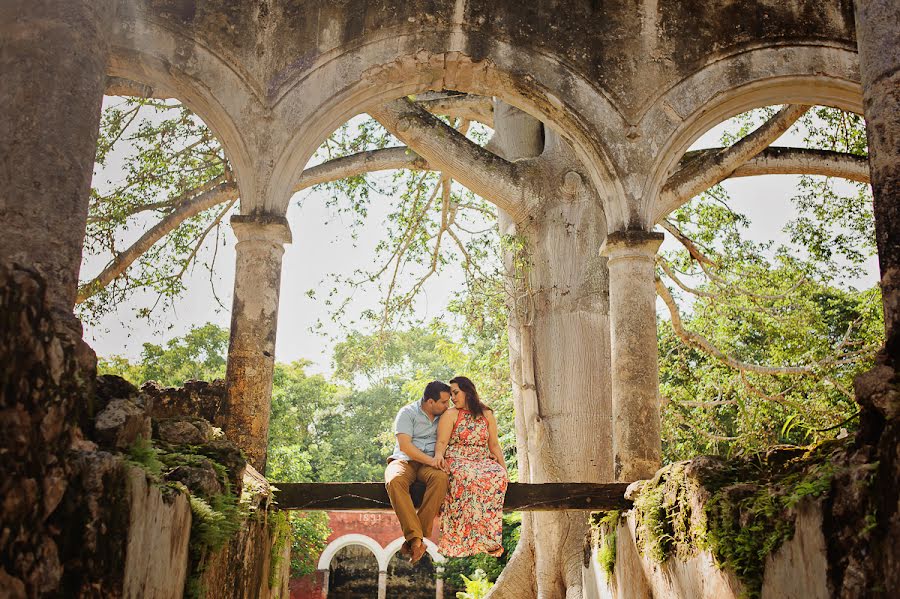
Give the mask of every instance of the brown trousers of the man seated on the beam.
[{"label": "brown trousers of the man seated on the beam", "polygon": [[[418,513],[409,496],[409,486],[417,480],[425,483],[425,497]],[[393,460],[384,471],[384,485],[391,498],[391,506],[400,520],[403,538],[411,541],[430,535],[434,517],[441,509],[441,503],[450,488],[447,473],[421,462]]]}]

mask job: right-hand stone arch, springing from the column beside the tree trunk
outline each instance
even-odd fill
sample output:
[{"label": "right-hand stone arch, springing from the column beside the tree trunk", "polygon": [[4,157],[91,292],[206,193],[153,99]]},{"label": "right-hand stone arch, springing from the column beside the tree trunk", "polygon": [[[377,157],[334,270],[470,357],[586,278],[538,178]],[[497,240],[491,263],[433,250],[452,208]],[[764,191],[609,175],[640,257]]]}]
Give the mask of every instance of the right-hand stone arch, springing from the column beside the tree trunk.
[{"label": "right-hand stone arch, springing from the column beside the tree trunk", "polygon": [[742,112],[773,104],[817,104],[862,113],[855,50],[833,46],[778,46],[716,61],[682,79],[642,118],[657,131],[659,150],[641,205],[653,225],[677,206],[659,204],[658,192],[678,161],[703,133]]}]

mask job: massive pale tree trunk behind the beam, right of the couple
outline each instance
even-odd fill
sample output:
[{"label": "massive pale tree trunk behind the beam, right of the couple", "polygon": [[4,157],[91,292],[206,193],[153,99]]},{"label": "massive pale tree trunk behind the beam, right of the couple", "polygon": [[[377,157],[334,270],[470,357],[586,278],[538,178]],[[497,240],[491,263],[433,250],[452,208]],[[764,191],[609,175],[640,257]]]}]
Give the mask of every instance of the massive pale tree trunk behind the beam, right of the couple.
[{"label": "massive pale tree trunk behind the beam, right of the couple", "polygon": [[[501,218],[501,232],[516,236],[507,270],[519,477],[534,483],[610,481],[608,281],[598,255],[606,234],[600,202],[580,183],[577,161],[555,134],[503,106],[495,108],[495,123],[496,151],[516,160],[543,150],[553,158],[546,161],[547,180],[559,181],[560,188],[555,201],[518,227]],[[588,533],[586,512],[526,517],[519,548],[491,597],[582,597]]]}]

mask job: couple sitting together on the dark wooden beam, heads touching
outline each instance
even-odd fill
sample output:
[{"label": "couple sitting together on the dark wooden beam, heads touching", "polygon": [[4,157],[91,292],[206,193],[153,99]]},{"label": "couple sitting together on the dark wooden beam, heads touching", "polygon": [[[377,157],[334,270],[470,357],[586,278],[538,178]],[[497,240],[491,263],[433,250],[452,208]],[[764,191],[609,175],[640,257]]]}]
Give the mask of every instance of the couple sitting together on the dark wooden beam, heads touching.
[{"label": "couple sitting together on the dark wooden beam, heads touching", "polygon": [[[440,510],[442,555],[499,557],[509,476],[497,420],[472,381],[459,376],[450,385],[428,383],[422,400],[397,414],[394,433],[397,446],[384,480],[406,539],[400,552],[413,563],[422,558],[423,539]],[[415,481],[425,483],[418,512],[409,494]]]}]

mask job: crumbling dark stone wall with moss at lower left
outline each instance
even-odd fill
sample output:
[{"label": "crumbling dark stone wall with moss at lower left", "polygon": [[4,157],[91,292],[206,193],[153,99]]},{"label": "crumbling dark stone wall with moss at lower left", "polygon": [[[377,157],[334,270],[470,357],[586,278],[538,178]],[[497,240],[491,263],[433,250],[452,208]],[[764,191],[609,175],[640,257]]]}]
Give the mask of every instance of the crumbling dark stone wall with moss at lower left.
[{"label": "crumbling dark stone wall with moss at lower left", "polygon": [[[200,577],[207,597],[287,597],[289,543],[269,572],[268,483],[206,420],[164,401],[221,394],[97,379],[94,353],[47,295],[36,271],[0,264],[0,595],[163,599]],[[244,492],[237,531],[191,572],[189,497],[228,488]]]}]

